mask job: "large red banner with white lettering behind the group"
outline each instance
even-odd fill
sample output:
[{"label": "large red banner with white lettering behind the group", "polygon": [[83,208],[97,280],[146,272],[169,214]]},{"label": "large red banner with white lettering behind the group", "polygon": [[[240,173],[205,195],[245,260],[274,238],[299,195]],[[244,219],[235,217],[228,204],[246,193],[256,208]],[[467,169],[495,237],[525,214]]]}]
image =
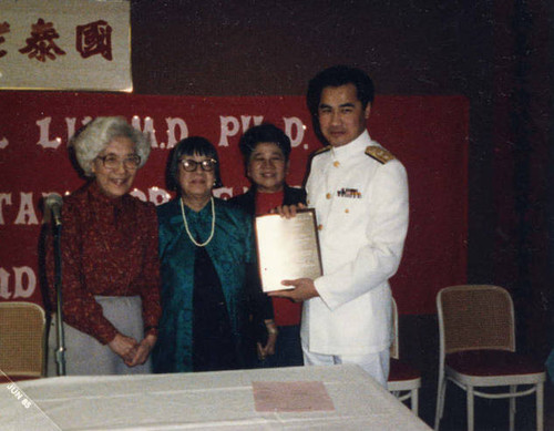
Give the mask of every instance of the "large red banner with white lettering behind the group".
[{"label": "large red banner with white lettering behind the group", "polygon": [[[41,304],[38,238],[41,199],[78,188],[66,143],[99,115],[122,115],[152,134],[151,157],[133,194],[155,204],[165,186],[168,150],[202,135],[216,145],[224,186],[240,194],[248,181],[242,133],[273,122],[293,141],[288,183],[300,185],[308,155],[320,147],[301,96],[198,98],[133,94],[2,92],[0,98],[0,300]],[[468,122],[462,96],[378,96],[370,135],[402,161],[410,181],[410,228],[392,288],[402,314],[433,314],[437,291],[465,281]]]}]

